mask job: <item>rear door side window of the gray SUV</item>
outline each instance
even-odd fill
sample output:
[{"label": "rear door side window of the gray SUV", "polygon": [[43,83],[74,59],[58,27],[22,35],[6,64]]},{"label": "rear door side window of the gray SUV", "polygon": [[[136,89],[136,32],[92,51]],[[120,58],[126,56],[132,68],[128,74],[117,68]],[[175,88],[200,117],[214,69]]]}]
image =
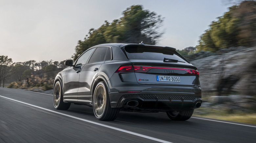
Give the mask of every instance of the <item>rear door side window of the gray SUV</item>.
[{"label": "rear door side window of the gray SUV", "polygon": [[105,61],[107,51],[108,47],[98,47],[93,53],[88,63]]}]

